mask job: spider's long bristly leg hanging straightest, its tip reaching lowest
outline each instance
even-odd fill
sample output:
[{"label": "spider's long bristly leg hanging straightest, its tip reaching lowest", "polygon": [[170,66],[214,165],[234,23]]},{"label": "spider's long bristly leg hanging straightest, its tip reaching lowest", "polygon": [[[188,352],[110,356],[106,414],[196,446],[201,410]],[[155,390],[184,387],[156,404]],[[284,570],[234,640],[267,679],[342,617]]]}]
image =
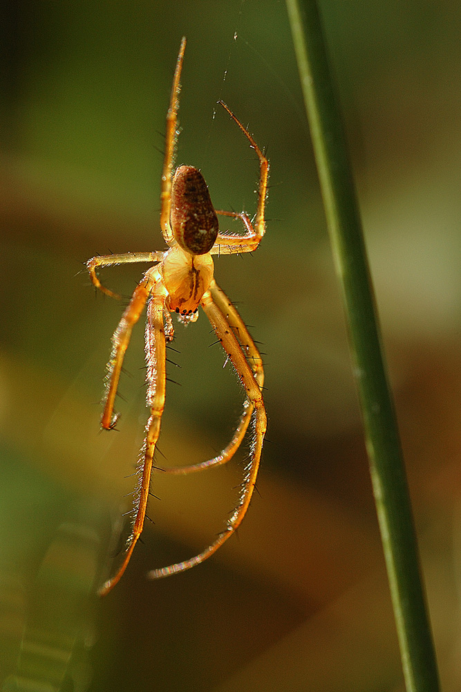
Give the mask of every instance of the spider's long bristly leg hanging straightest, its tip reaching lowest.
[{"label": "spider's long bristly leg hanging straightest, its tip reaching lowest", "polygon": [[[127,541],[127,549],[122,565],[111,579],[106,581],[99,590],[100,596],[105,596],[120,581],[126,570],[133,553],[133,549],[142,534],[144,518],[146,516],[147,499],[149,497],[149,485],[153,454],[156,449],[158,436],[160,435],[160,423],[165,401],[166,386],[166,345],[164,333],[164,293],[156,284],[153,288],[151,299],[147,307],[146,325],[146,360],[147,360],[147,403],[151,410],[151,416],[147,421],[146,439],[141,450],[140,464],[138,467],[138,484],[135,489],[135,520],[131,535]],[[156,290],[157,289],[157,290]]]}]

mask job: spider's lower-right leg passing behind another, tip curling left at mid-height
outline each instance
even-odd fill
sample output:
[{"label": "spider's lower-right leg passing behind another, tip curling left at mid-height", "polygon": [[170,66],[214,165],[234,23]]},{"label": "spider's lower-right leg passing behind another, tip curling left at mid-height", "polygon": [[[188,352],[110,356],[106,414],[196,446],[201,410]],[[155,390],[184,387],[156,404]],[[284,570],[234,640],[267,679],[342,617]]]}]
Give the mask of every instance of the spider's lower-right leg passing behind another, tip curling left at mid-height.
[{"label": "spider's lower-right leg passing behind another, tip curling left at mid-height", "polygon": [[[220,311],[225,316],[226,320],[229,322],[231,329],[238,341],[240,342],[241,348],[245,353],[248,364],[250,365],[254,379],[258,383],[259,388],[262,390],[264,384],[264,370],[263,361],[259,351],[248,331],[245,322],[243,322],[241,316],[234,304],[227,298],[223,289],[220,289],[216,281],[211,282],[210,292],[214,299],[214,302],[220,309]],[[250,402],[250,399],[245,399],[243,403],[243,413],[241,419],[238,422],[238,426],[234,431],[231,441],[223,449],[223,451],[218,454],[213,459],[208,459],[206,462],[200,462],[200,464],[191,464],[189,466],[169,466],[167,468],[162,468],[162,473],[169,473],[170,475],[186,475],[187,473],[195,473],[196,471],[204,471],[206,468],[211,468],[213,466],[222,466],[227,464],[227,462],[232,459],[238,448],[241,446],[245,433],[247,432],[248,426],[250,425],[250,419],[252,417],[252,412],[254,406]]]}]

